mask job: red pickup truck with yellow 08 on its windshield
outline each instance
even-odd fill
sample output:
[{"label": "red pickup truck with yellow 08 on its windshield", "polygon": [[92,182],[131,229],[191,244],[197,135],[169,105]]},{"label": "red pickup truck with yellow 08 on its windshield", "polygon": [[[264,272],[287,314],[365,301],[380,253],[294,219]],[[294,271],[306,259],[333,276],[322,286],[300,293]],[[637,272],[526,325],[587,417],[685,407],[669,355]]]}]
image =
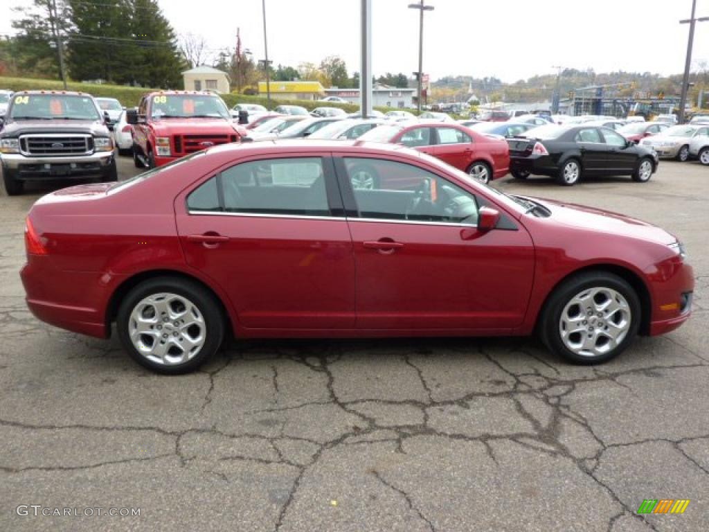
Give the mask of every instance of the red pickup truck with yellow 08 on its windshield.
[{"label": "red pickup truck with yellow 08 on its windshield", "polygon": [[211,92],[151,92],[143,96],[138,109],[126,111],[125,118],[133,125],[133,160],[139,168],[167,165],[247,135],[234,123],[222,99]]}]

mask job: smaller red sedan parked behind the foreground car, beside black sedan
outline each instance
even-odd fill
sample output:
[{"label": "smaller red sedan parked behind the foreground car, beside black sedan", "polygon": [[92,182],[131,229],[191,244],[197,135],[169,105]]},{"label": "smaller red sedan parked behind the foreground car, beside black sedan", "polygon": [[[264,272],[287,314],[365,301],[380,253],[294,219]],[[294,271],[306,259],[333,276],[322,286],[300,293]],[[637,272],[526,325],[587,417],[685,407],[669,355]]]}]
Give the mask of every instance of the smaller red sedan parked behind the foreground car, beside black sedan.
[{"label": "smaller red sedan parked behind the foreground car, beside black sedan", "polygon": [[507,174],[510,150],[504,139],[457,123],[395,123],[367,131],[359,140],[403,144],[428,153],[483,183]]}]

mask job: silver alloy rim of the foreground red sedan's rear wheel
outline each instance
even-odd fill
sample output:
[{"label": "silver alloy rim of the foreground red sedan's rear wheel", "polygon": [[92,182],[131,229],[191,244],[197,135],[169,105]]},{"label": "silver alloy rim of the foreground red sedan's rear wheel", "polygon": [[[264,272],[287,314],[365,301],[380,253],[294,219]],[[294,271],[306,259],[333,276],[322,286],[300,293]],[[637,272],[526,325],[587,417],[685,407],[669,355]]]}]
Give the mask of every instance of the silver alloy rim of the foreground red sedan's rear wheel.
[{"label": "silver alloy rim of the foreground red sedan's rear wheel", "polygon": [[186,297],[170,293],[141,299],[130,313],[128,334],[140,355],[160,365],[191,360],[207,338],[199,308]]}]

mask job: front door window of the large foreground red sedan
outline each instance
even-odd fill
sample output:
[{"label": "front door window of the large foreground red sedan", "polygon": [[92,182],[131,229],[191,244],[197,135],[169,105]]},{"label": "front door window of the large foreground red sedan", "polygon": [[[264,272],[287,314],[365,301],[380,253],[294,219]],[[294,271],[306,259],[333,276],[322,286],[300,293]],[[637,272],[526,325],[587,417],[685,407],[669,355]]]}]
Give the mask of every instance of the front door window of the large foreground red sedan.
[{"label": "front door window of the large foreground red sedan", "polygon": [[345,167],[362,218],[477,223],[475,196],[423,168],[359,157]]}]

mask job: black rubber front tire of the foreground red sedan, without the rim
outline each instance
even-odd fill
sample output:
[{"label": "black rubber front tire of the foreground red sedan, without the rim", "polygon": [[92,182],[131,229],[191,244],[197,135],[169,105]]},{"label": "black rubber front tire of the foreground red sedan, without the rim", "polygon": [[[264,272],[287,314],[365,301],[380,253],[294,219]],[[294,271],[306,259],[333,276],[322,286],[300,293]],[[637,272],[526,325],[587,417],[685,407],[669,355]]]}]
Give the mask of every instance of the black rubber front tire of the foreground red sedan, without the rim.
[{"label": "black rubber front tire of the foreground red sedan, without the rim", "polygon": [[[578,326],[583,328],[583,332],[572,331],[569,333],[567,341],[569,343],[578,343],[586,341],[586,338],[591,338],[591,341],[594,342],[593,350],[599,348],[601,351],[603,349],[607,350],[605,353],[590,354],[586,351],[586,355],[584,355],[571,350],[571,348],[564,343],[564,338],[562,338],[562,314],[566,312],[567,317],[570,315],[576,316],[574,299],[587,291],[593,294],[593,289],[598,289],[598,292],[593,297],[600,299],[601,304],[604,302],[603,298],[608,298],[610,291],[615,292],[615,294],[620,294],[620,296],[625,299],[627,306],[623,308],[627,308],[629,316],[623,316],[622,310],[604,315],[603,311],[598,310],[599,307],[596,306],[596,299],[589,301],[589,304],[594,305],[594,307],[588,306],[586,309],[583,309],[581,305],[577,305],[579,306],[579,311],[581,311],[578,318],[580,320]],[[607,300],[610,301],[610,298]],[[590,315],[588,314],[589,309],[592,309],[592,314]],[[598,316],[599,312],[601,316]],[[623,318],[627,320],[627,326],[623,325],[625,328],[625,336],[620,339],[617,345],[608,347],[608,344],[613,344],[613,341],[609,340],[610,336],[608,336],[608,334],[612,334],[615,330],[611,326],[610,333],[605,333],[605,331],[609,331],[608,323],[611,323],[611,321],[616,323],[619,320],[620,323],[618,323],[618,325],[620,325],[623,324]],[[569,277],[569,279],[566,279],[559,287],[554,289],[554,292],[552,292],[552,295],[547,299],[547,303],[542,309],[539,321],[539,333],[542,342],[547,345],[547,348],[549,348],[552,353],[574,364],[593,365],[600,364],[623,353],[623,350],[632,343],[633,338],[637,335],[641,320],[642,311],[640,298],[635,292],[635,289],[633,289],[625,279],[609,272],[584,272]],[[596,336],[596,338],[588,335]],[[605,338],[605,340],[601,340],[601,338]],[[606,342],[605,346],[603,345],[603,341]],[[579,347],[579,350],[582,350],[582,348]]]}]

